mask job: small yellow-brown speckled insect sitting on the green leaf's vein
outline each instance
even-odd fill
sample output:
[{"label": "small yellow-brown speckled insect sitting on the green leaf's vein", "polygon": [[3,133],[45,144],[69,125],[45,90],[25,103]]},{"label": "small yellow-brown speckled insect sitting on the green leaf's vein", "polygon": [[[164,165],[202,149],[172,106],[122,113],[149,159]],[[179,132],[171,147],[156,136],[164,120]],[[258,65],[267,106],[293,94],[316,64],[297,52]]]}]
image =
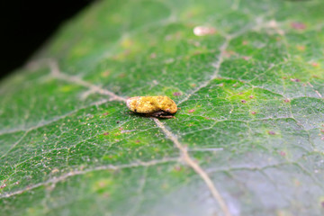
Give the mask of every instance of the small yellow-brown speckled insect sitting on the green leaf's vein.
[{"label": "small yellow-brown speckled insect sitting on the green leaf's vein", "polygon": [[171,119],[177,111],[175,102],[167,96],[136,96],[126,100],[130,111],[147,116]]}]

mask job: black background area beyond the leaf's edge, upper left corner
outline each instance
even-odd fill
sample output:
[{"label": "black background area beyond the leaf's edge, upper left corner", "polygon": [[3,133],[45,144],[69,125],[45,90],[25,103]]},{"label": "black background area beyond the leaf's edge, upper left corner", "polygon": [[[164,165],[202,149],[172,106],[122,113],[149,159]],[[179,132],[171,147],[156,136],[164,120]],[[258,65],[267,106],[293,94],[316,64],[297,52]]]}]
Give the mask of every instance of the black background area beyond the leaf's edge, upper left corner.
[{"label": "black background area beyond the leaf's edge, upper left corner", "polygon": [[61,23],[91,0],[1,0],[0,79],[22,67]]}]

